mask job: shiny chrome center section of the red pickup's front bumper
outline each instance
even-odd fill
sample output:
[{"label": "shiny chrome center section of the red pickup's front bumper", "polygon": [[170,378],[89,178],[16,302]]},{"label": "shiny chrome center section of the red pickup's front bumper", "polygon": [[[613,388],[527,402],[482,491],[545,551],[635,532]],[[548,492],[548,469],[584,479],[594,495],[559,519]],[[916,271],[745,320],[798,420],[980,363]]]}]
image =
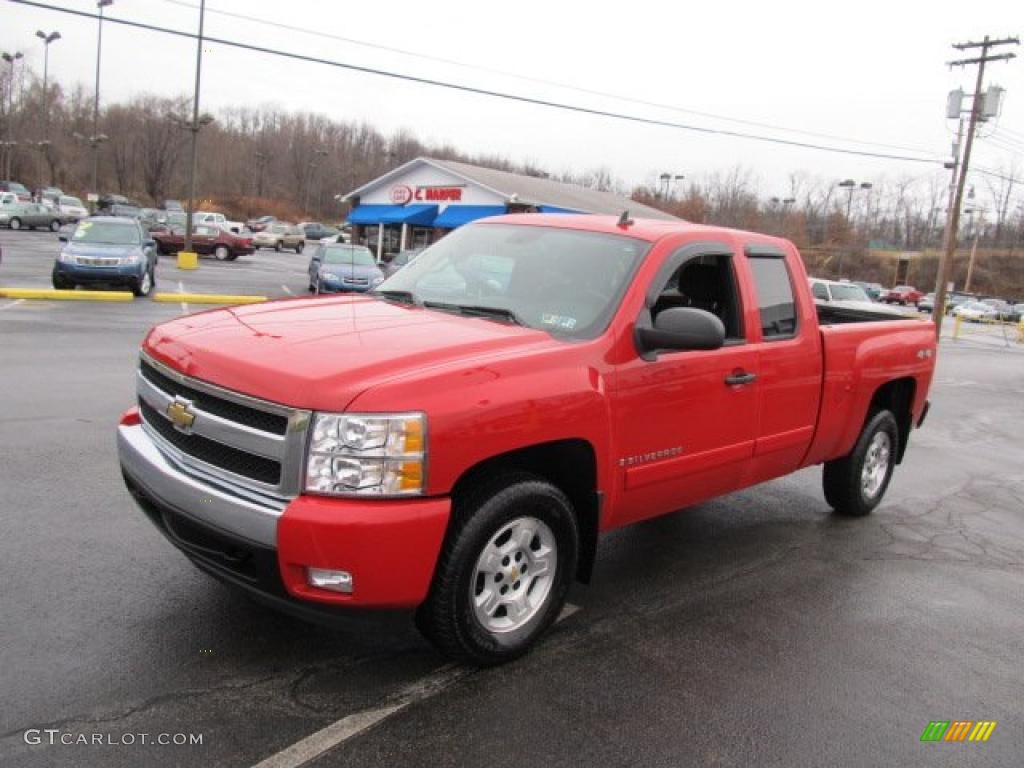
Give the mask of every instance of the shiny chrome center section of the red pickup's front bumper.
[{"label": "shiny chrome center section of the red pickup's front bumper", "polygon": [[182,514],[266,547],[278,546],[286,503],[259,504],[181,471],[141,425],[118,427],[121,468],[151,496]]}]

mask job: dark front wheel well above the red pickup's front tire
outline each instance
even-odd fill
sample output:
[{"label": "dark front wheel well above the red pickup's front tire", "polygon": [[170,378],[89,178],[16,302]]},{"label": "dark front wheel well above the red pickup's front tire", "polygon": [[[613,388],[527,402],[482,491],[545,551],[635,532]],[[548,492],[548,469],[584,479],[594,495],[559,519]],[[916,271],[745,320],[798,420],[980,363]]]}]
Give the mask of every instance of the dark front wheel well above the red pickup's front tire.
[{"label": "dark front wheel well above the red pickup's front tire", "polygon": [[477,482],[508,470],[539,475],[568,497],[580,525],[577,579],[589,583],[601,504],[593,446],[583,439],[556,440],[493,456],[466,470],[452,488],[452,497],[458,501]]}]

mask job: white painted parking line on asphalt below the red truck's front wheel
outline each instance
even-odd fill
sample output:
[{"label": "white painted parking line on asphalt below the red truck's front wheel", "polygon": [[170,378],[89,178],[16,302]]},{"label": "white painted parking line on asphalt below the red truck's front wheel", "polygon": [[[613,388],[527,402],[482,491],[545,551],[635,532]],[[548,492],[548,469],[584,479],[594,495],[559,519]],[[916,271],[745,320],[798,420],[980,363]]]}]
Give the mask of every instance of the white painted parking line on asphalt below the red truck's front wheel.
[{"label": "white painted parking line on asphalt below the red truck's front wheel", "polygon": [[[565,621],[578,610],[580,610],[579,605],[565,603],[556,623]],[[344,743],[352,736],[357,736],[392,715],[401,712],[410,705],[436,696],[472,672],[473,670],[469,667],[460,667],[455,664],[439,667],[430,675],[420,678],[402,689],[401,692],[392,697],[391,703],[347,715],[296,741],[291,746],[286,746],[276,755],[261,760],[253,768],[299,768],[311,760],[315,760],[325,752]]]}]

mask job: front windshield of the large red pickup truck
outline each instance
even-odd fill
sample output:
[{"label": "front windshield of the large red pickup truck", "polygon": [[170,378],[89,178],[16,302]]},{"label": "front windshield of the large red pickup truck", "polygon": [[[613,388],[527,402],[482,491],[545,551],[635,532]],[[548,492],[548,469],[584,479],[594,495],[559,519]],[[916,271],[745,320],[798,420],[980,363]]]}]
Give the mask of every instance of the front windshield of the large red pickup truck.
[{"label": "front windshield of the large red pickup truck", "polygon": [[530,328],[593,338],[607,327],[649,244],[620,234],[516,224],[456,229],[378,293],[465,313],[493,310]]}]

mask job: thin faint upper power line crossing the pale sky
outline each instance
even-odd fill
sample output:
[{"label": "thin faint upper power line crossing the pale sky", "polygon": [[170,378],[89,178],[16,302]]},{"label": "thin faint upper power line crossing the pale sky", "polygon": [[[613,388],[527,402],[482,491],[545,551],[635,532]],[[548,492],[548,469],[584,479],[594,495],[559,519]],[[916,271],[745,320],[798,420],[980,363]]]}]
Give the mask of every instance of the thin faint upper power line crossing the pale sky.
[{"label": "thin faint upper power line crossing the pale sky", "polygon": [[[195,3],[185,2],[185,0],[160,0],[160,2],[168,3],[170,5],[177,5],[183,8],[191,8],[198,10],[199,6]],[[531,77],[529,75],[523,75],[515,72],[508,72],[506,70],[500,70],[493,67],[485,67],[483,65],[469,63],[466,61],[459,61],[454,58],[446,58],[444,56],[435,56],[429,53],[422,53],[419,51],[409,50],[408,48],[397,48],[390,45],[384,45],[382,43],[372,43],[367,40],[359,40],[357,38],[345,37],[343,35],[336,35],[331,32],[323,32],[321,30],[311,30],[307,27],[297,27],[294,25],[285,24],[283,22],[274,22],[270,18],[263,18],[260,16],[253,16],[247,13],[237,13],[228,10],[219,10],[217,8],[207,8],[207,13],[216,13],[221,16],[227,16],[229,18],[238,18],[246,22],[252,22],[253,24],[265,25],[267,27],[274,27],[282,30],[289,30],[290,32],[299,32],[305,35],[312,35],[314,37],[321,37],[327,40],[336,40],[338,42],[350,43],[352,45],[358,45],[366,48],[372,48],[376,50],[388,51],[390,53],[398,53],[403,56],[411,56],[413,58],[421,58],[425,61],[436,61],[438,63],[451,65],[453,67],[461,67],[467,70],[476,70],[479,72],[489,73],[492,75],[501,75],[503,77],[515,78],[517,80],[522,80],[528,83],[537,83],[539,85],[548,85],[555,88],[564,88],[565,90],[575,91],[578,93],[586,93],[592,96],[602,96],[604,98],[613,98],[618,101],[626,101],[628,103],[639,104],[642,106],[652,106],[658,110],[667,110],[670,112],[676,112],[683,115],[694,115],[702,118],[711,118],[713,120],[721,120],[727,123],[736,123],[737,125],[748,125],[754,128],[767,128],[773,131],[781,131],[783,133],[793,133],[803,136],[813,136],[816,138],[827,138],[835,141],[843,141],[851,144],[860,144],[862,146],[879,146],[889,150],[899,150],[901,152],[916,152],[925,155],[933,155],[937,159],[940,157],[938,153],[932,150],[927,150],[921,146],[907,146],[905,144],[892,144],[886,143],[884,141],[868,141],[865,139],[849,138],[847,136],[839,136],[833,133],[821,133],[818,131],[808,131],[800,128],[788,128],[786,126],[775,125],[772,123],[762,123],[755,120],[744,120],[742,118],[732,118],[725,115],[717,115],[710,112],[701,112],[698,110],[689,110],[684,106],[678,106],[676,104],[667,104],[660,101],[647,101],[641,98],[636,98],[634,96],[624,96],[621,93],[611,93],[608,91],[595,90],[592,88],[585,88],[579,85],[572,85],[570,83],[563,83],[557,80],[548,80],[546,78]]]}]

